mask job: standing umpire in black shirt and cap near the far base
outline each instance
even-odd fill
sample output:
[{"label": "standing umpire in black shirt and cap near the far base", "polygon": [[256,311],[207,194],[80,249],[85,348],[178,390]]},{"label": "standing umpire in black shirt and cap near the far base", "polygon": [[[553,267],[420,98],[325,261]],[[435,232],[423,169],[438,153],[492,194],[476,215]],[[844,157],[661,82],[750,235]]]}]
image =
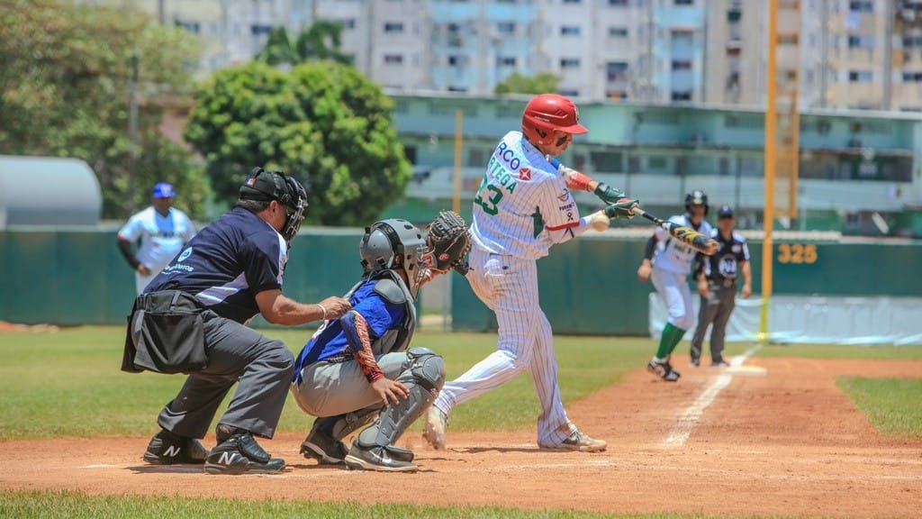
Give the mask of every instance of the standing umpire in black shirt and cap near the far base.
[{"label": "standing umpire in black shirt and cap near the far base", "polygon": [[691,338],[691,366],[701,365],[701,346],[708,326],[711,330],[711,366],[729,366],[724,359],[724,337],[727,322],[736,307],[737,280],[742,275],[743,299],[752,295],[752,271],[749,247],[746,238],[733,230],[736,218],[730,206],[717,211],[717,228],[711,230],[711,237],[717,240],[714,256],[699,255],[702,264],[698,273],[698,294],[701,305],[698,309],[698,328]]}]

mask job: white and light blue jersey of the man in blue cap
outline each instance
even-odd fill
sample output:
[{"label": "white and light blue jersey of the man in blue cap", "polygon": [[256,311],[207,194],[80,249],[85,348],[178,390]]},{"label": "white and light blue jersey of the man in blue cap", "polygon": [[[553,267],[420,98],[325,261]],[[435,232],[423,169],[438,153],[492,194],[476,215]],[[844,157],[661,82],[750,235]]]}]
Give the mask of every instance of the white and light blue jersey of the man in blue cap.
[{"label": "white and light blue jersey of the man in blue cap", "polygon": [[151,272],[169,265],[194,235],[195,227],[183,211],[170,208],[163,216],[153,206],[136,213],[118,232],[119,238],[129,242],[141,238],[135,257]]}]

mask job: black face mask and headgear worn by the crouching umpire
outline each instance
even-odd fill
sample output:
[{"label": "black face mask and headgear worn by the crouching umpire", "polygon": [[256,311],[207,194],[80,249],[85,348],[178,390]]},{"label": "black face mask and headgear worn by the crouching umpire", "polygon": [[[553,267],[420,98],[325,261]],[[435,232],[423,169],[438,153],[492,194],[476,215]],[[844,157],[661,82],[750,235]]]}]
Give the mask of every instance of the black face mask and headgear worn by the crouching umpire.
[{"label": "black face mask and headgear worn by the crouching umpire", "polygon": [[304,210],[307,209],[307,191],[293,176],[281,171],[266,171],[256,167],[240,187],[242,200],[277,200],[286,208],[285,225],[281,235],[287,243],[298,235]]}]

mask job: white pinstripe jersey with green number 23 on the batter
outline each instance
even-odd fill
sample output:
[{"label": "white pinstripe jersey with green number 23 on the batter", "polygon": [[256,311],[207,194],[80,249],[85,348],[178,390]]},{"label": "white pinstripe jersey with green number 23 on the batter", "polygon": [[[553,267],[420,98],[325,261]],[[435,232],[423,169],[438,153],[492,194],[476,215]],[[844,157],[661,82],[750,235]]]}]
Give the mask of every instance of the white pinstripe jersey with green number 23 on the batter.
[{"label": "white pinstripe jersey with green number 23 on the batter", "polygon": [[474,199],[474,243],[495,254],[538,259],[588,226],[557,169],[522,132],[507,133]]}]

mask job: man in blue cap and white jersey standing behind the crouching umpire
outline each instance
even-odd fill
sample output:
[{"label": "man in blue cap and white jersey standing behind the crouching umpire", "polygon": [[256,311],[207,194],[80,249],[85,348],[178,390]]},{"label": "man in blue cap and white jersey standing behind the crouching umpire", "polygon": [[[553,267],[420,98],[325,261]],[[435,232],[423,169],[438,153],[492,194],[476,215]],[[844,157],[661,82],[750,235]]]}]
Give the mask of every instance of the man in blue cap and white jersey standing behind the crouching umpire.
[{"label": "man in blue cap and white jersey standing behind the crouching umpire", "polygon": [[[118,232],[118,247],[135,270],[137,293],[160,273],[195,235],[195,226],[183,211],[172,207],[176,196],[171,184],[160,182],[151,192],[151,205],[137,212]],[[137,254],[132,244],[140,239]]]}]

